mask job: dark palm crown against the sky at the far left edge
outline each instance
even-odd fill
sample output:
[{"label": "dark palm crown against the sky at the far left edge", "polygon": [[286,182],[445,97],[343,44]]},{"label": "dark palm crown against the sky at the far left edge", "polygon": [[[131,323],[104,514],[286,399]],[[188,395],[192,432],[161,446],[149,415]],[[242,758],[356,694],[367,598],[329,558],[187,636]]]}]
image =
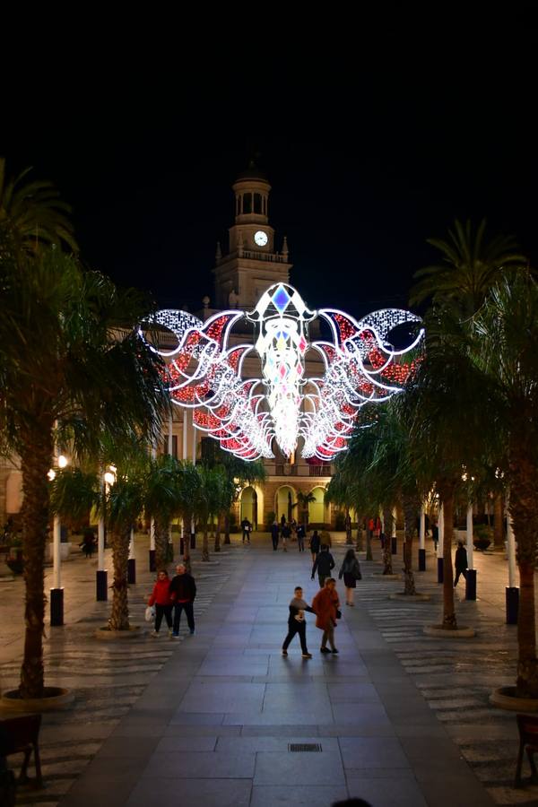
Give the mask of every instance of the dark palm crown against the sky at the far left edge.
[{"label": "dark palm crown against the sky at the far left edge", "polygon": [[15,255],[33,254],[42,245],[64,243],[78,251],[69,204],[62,202],[51,182],[28,182],[30,168],[16,178],[5,176],[5,159],[0,157],[0,248]]}]

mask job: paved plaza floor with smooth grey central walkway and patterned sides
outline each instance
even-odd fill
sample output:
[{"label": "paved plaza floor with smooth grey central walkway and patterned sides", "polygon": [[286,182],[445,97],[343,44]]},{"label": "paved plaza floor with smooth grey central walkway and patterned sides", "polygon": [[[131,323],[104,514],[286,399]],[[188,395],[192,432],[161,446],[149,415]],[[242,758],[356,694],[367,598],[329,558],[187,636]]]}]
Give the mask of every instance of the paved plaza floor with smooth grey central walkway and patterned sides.
[{"label": "paved plaza floor with smooth grey central walkway and patterned sides", "polygon": [[[417,573],[430,602],[390,600],[403,583],[379,577],[360,554],[355,607],[342,607],[339,655],[319,653],[308,614],[308,649],[298,638],[282,657],[295,586],[311,602],[310,554],[292,543],[273,552],[266,535],[195,561],[200,596],[195,636],[153,639],[143,623],[151,590],[147,538],[137,539],[138,583],[130,587],[142,635],[100,642],[109,603],[94,602],[95,560],[64,567],[65,621],[48,629],[49,685],[74,690],[72,707],[43,717],[46,788],[19,803],[52,807],[195,805],[330,807],[352,796],[373,807],[538,804],[538,787],[513,790],[515,716],[488,696],[515,680],[516,628],[505,624],[508,564],[475,553],[478,600],[456,589],[461,624],[473,639],[429,638],[441,616],[435,558]],[[333,546],[337,568],[343,535]],[[416,554],[416,552],[415,552]],[[376,558],[378,551],[376,551]],[[401,568],[401,551],[395,570]],[[377,572],[377,574],[375,574]],[[0,683],[16,685],[22,581],[4,581]],[[344,590],[338,585],[341,601]],[[294,750],[293,746],[311,750]],[[16,761],[10,758],[10,761]]]}]

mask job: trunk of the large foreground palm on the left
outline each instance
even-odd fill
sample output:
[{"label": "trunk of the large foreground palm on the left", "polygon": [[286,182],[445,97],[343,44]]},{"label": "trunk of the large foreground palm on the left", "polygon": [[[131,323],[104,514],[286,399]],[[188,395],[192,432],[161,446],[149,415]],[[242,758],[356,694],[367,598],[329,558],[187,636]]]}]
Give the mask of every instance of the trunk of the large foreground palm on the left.
[{"label": "trunk of the large foreground palm on the left", "polygon": [[24,657],[19,691],[21,698],[41,698],[44,687],[43,633],[45,621],[45,544],[48,527],[47,472],[52,464],[52,421],[29,434],[21,454],[24,503],[22,506],[22,558],[24,561]]}]

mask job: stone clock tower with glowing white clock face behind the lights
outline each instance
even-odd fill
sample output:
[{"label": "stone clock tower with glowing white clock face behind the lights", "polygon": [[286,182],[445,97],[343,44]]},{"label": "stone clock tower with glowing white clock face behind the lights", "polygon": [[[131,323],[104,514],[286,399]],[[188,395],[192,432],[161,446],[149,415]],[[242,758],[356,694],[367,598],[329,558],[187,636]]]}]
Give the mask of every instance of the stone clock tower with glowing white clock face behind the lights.
[{"label": "stone clock tower with glowing white clock face behind the lights", "polygon": [[222,255],[217,246],[215,308],[255,308],[268,286],[290,282],[291,264],[284,237],[282,252],[274,248],[274,230],[269,224],[268,201],[271,186],[265,175],[250,162],[232,186],[235,195],[235,223],[230,227],[230,252]]}]

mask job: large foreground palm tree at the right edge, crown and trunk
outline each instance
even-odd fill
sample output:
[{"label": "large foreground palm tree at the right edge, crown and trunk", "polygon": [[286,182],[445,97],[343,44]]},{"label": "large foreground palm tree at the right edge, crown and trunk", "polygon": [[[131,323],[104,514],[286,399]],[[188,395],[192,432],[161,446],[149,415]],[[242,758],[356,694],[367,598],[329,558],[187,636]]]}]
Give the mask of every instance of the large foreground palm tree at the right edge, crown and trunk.
[{"label": "large foreground palm tree at the right edge, crown and trunk", "polygon": [[509,512],[517,542],[519,697],[538,698],[534,570],[538,551],[538,285],[530,274],[503,277],[471,326],[471,359],[482,373],[488,439],[508,455]]}]

